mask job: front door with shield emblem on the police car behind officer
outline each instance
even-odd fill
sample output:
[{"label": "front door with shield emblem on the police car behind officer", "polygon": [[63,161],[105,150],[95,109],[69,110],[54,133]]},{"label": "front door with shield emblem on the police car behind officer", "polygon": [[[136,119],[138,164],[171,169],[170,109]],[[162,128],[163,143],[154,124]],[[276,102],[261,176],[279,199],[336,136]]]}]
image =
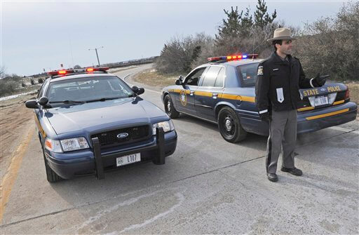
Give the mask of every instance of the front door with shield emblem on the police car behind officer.
[{"label": "front door with shield emblem on the police car behind officer", "polygon": [[204,74],[207,67],[200,67],[194,69],[190,74],[186,76],[182,84],[182,88],[179,90],[179,94],[176,95],[176,109],[179,112],[185,114],[196,115],[196,109],[194,107],[194,92],[198,88],[198,81],[201,81],[201,76]]}]

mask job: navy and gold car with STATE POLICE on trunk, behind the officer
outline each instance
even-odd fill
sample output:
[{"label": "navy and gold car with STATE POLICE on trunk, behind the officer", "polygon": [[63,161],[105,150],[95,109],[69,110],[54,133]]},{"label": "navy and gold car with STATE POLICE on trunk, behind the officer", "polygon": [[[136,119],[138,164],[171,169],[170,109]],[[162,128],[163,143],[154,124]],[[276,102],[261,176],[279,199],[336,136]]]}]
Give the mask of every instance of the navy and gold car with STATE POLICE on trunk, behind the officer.
[{"label": "navy and gold car with STATE POLICE on trunk, behind the officer", "polygon": [[[257,55],[208,58],[208,64],[179,76],[175,86],[162,90],[165,112],[175,119],[188,114],[217,123],[228,142],[244,140],[247,133],[268,135],[268,123],[261,121],[255,105]],[[348,87],[329,83],[299,90],[302,107],[297,109],[297,133],[337,126],[356,117],[357,105],[350,102]]]}]

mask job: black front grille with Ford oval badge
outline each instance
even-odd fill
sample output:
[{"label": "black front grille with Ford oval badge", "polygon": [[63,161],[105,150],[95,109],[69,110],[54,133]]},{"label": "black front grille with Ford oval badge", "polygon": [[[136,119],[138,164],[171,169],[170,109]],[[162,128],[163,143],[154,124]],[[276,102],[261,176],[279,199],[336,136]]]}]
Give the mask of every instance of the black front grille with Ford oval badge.
[{"label": "black front grille with Ford oval badge", "polygon": [[[118,137],[120,134],[122,134],[122,136]],[[149,137],[149,126],[133,126],[118,130],[110,130],[104,133],[91,135],[91,138],[94,137],[98,137],[101,147],[124,145],[147,139],[147,137]]]}]

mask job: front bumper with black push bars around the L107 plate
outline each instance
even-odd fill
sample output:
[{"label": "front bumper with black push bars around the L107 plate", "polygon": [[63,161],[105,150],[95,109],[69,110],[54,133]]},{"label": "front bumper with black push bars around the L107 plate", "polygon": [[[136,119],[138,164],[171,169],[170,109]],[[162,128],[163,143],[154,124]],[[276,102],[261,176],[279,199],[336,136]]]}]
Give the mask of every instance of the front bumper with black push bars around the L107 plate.
[{"label": "front bumper with black push bars around the L107 plate", "polygon": [[141,161],[153,161],[155,164],[164,164],[165,156],[173,154],[176,146],[177,133],[175,130],[163,133],[163,129],[159,128],[156,136],[152,137],[150,142],[136,147],[129,147],[116,152],[104,152],[100,149],[98,140],[93,138],[93,149],[85,149],[67,154],[46,152],[46,158],[50,168],[64,179],[71,179],[77,175],[93,174],[98,179],[102,179],[104,172],[117,168],[116,158],[119,156],[140,153]]}]

